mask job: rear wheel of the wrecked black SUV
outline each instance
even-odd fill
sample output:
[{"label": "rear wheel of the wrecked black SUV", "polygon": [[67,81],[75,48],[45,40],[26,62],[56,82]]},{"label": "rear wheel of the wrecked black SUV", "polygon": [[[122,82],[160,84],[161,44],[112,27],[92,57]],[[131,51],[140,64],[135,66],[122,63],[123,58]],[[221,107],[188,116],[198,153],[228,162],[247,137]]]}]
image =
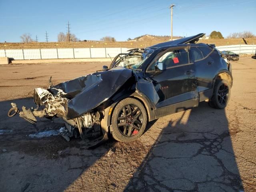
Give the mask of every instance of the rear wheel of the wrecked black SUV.
[{"label": "rear wheel of the wrecked black SUV", "polygon": [[208,102],[209,106],[216,109],[224,109],[228,105],[230,98],[230,83],[224,79],[216,80],[212,98]]}]

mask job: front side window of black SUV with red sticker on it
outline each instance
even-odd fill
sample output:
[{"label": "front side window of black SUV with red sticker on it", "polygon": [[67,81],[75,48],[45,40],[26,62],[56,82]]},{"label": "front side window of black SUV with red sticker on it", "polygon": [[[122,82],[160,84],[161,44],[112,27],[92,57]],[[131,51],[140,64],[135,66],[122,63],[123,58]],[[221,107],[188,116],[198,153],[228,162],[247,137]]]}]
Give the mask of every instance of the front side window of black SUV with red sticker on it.
[{"label": "front side window of black SUV with red sticker on it", "polygon": [[169,67],[173,67],[173,66],[178,66],[178,65],[182,65],[182,64],[188,64],[189,60],[188,60],[188,52],[185,49],[178,49],[178,50],[172,50],[172,51],[168,51],[165,54],[163,54],[162,56],[157,56],[158,59],[156,59],[148,68],[148,71],[153,71],[155,70],[155,66],[158,63],[162,63],[163,67],[169,68]]}]

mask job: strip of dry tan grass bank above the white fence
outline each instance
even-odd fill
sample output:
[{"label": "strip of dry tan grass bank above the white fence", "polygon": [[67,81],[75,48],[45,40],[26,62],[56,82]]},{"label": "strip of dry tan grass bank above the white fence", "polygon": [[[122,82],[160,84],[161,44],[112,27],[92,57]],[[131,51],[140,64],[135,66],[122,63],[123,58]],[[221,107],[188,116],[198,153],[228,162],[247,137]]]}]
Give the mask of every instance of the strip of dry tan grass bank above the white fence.
[{"label": "strip of dry tan grass bank above the white fence", "polygon": [[[0,49],[37,49],[37,48],[111,48],[111,47],[124,47],[124,48],[145,48],[154,44],[161,43],[162,41],[148,41],[148,42],[32,42],[32,43],[0,43]],[[238,39],[209,39],[200,40],[200,42],[215,44],[216,46],[222,45],[236,45],[245,44],[242,38]],[[256,38],[246,39],[247,44],[256,44]]]}]

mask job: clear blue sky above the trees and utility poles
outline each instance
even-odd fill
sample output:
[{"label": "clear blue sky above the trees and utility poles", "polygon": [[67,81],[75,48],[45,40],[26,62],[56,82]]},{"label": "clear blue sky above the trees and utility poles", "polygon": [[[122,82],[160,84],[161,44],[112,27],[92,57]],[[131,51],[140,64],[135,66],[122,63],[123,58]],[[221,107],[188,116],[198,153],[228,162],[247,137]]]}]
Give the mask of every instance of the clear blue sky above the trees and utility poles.
[{"label": "clear blue sky above the trees and utility poles", "polygon": [[244,30],[256,34],[256,0],[0,0],[0,42],[20,42],[24,33],[44,42],[46,30],[49,41],[56,41],[68,21],[80,40],[170,35],[172,3],[174,36],[213,30],[224,37]]}]

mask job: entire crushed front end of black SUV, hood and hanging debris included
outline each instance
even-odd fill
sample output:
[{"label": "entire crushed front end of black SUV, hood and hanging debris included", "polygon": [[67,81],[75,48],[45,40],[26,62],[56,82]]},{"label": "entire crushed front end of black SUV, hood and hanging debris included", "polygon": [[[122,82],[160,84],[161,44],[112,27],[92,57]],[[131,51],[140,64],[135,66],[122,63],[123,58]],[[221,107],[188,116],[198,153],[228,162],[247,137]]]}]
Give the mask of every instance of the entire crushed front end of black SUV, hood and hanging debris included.
[{"label": "entire crushed front end of black SUV, hood and hanging debris included", "polygon": [[80,137],[88,147],[96,147],[108,140],[108,128],[104,118],[108,115],[108,99],[132,76],[131,70],[97,72],[49,88],[34,90],[36,108],[22,106],[20,111],[15,103],[8,116],[19,114],[26,121],[36,125],[39,118],[62,118],[65,128],[60,134],[66,139]]}]

